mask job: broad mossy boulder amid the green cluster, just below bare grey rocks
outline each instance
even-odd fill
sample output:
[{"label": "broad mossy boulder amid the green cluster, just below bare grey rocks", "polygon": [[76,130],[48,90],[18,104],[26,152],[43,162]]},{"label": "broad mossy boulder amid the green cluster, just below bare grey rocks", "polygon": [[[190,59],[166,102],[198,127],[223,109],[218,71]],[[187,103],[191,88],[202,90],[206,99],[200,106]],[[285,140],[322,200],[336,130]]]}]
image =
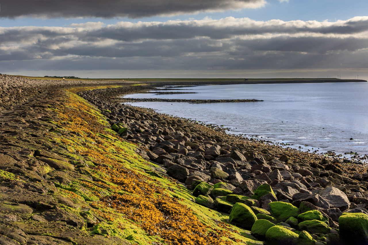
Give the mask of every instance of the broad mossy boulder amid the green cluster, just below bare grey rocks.
[{"label": "broad mossy boulder amid the green cluster, just below bare grey rocks", "polygon": [[287,202],[271,202],[268,204],[268,209],[277,222],[286,221],[290,217],[298,217],[299,215],[299,209]]}]

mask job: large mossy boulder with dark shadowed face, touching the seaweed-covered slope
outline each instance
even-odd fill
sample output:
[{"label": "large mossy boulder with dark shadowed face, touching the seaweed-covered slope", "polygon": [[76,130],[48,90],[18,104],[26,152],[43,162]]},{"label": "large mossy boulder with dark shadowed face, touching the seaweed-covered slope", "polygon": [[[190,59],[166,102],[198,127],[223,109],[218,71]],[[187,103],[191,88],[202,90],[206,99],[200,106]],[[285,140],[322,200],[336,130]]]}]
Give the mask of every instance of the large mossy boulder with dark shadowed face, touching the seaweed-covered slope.
[{"label": "large mossy boulder with dark shadowed face, touching the seaweed-covered slope", "polygon": [[257,220],[253,211],[244,203],[235,203],[229,216],[231,224],[250,230]]}]

